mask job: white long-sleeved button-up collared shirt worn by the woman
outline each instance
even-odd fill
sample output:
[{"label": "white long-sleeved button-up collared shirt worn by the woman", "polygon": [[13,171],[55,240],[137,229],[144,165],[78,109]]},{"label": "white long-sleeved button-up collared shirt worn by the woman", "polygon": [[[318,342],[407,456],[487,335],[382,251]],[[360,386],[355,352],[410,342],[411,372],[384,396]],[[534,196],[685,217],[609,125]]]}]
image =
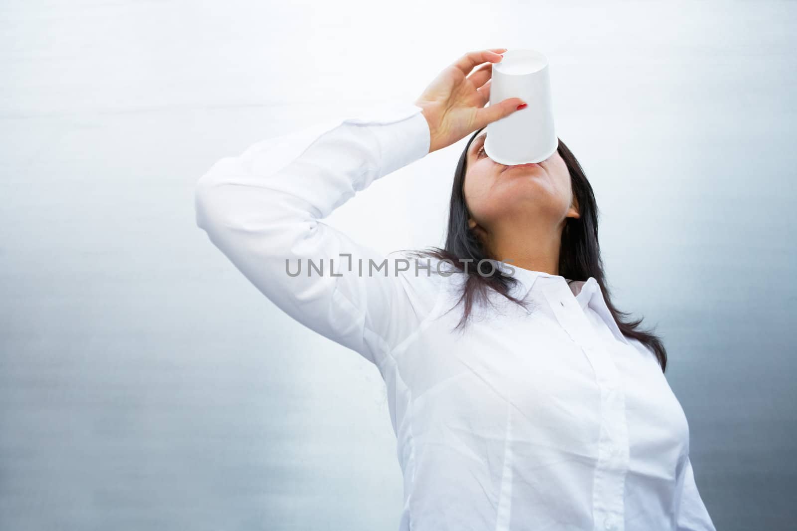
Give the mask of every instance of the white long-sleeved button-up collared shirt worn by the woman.
[{"label": "white long-sleeved button-up collared shirt worn by the woman", "polygon": [[420,108],[385,107],[257,143],[196,189],[198,225],[266,297],[379,369],[399,528],[713,530],[681,405],[594,278],[491,260],[532,305],[493,293],[497,306],[477,304],[454,331],[464,274],[383,256],[321,221],[429,146]]}]

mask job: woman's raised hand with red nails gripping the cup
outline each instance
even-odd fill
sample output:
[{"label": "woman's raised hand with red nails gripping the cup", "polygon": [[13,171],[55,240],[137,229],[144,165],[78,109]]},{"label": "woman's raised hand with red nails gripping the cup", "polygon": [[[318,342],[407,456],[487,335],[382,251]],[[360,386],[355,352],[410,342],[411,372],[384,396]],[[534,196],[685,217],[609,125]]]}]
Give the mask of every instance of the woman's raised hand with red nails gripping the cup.
[{"label": "woman's raised hand with red nails gripping the cup", "polygon": [[[430,153],[511,115],[518,105],[525,103],[520,98],[508,98],[485,107],[490,100],[493,63],[501,61],[500,54],[506,50],[493,48],[465,53],[440,72],[415,101],[429,123]],[[473,70],[477,64],[485,62],[487,64]]]}]

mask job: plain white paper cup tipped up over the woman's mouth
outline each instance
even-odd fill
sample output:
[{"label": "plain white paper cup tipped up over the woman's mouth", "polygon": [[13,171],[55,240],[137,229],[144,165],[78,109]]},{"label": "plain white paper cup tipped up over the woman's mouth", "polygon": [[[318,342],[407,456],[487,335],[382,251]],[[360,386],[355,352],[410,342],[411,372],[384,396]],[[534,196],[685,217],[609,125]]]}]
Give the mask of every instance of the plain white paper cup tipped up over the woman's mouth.
[{"label": "plain white paper cup tipped up over the woman's mouth", "polygon": [[541,162],[556,152],[548,58],[532,49],[511,49],[493,63],[490,105],[520,98],[528,107],[487,124],[485,153],[499,164]]}]

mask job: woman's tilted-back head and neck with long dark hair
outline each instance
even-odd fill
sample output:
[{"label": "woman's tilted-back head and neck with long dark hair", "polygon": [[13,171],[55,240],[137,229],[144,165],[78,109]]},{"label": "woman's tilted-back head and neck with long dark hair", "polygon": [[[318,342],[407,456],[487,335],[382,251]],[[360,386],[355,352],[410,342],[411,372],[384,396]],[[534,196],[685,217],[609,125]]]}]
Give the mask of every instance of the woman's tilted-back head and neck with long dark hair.
[{"label": "woman's tilted-back head and neck with long dark hair", "polygon": [[[485,135],[483,130],[476,131],[457,163],[445,248],[432,247],[416,253],[450,260],[463,271],[467,264],[484,259],[506,260],[512,265],[512,256],[496,256],[493,252],[497,242],[522,253],[524,248],[539,245],[540,238],[548,238],[548,243],[554,242],[559,248],[558,275],[571,281],[594,277],[622,334],[647,346],[665,371],[667,353],[661,339],[652,330],[638,330],[642,318],[626,322],[623,317],[627,313],[619,311],[611,301],[598,242],[598,205],[592,185],[571,150],[559,139],[556,152],[543,162],[507,167],[485,154]],[[493,275],[485,275],[472,266],[466,271],[462,295],[454,306],[460,302],[465,305],[457,327],[467,324],[472,304],[486,299],[490,290],[524,304],[510,295],[516,279],[499,269]]]}]

